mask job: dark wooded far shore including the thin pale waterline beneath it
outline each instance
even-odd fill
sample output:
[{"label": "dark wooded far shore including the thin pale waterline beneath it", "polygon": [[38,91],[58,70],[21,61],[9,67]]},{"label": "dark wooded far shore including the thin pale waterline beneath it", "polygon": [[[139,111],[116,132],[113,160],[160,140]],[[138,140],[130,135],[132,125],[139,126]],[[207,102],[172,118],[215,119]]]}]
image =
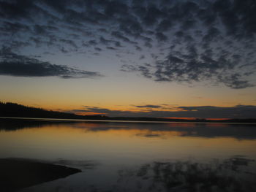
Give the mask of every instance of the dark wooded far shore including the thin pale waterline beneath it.
[{"label": "dark wooded far shore including the thin pale waterline beneath it", "polygon": [[111,122],[140,122],[140,123],[256,123],[255,118],[246,119],[182,119],[182,118],[149,118],[149,117],[108,117],[105,115],[76,115],[74,113],[49,111],[36,107],[26,107],[22,104],[3,103],[0,101],[0,117],[2,118],[23,118],[42,120],[71,120],[71,121],[111,121]]}]

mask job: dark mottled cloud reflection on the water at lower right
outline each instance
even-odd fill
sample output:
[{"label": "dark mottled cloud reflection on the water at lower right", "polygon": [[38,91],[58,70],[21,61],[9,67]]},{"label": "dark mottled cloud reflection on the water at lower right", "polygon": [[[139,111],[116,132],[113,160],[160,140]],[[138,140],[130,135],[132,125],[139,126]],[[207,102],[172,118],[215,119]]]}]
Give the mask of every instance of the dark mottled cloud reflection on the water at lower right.
[{"label": "dark mottled cloud reflection on the water at lower right", "polygon": [[[246,171],[252,160],[234,157],[208,164],[190,161],[154,162],[119,171],[114,191],[256,191],[256,175]],[[246,167],[245,167],[246,168]]]}]

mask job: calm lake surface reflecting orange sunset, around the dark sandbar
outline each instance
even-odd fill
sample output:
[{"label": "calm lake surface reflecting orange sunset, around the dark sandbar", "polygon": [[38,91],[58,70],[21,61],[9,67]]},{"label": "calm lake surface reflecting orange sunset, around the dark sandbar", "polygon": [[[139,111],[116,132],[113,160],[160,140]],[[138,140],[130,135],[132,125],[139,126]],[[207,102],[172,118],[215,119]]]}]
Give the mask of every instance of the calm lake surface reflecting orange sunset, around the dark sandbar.
[{"label": "calm lake surface reflecting orange sunset, around the dark sandbar", "polygon": [[256,126],[0,121],[0,158],[82,169],[22,191],[256,191]]}]

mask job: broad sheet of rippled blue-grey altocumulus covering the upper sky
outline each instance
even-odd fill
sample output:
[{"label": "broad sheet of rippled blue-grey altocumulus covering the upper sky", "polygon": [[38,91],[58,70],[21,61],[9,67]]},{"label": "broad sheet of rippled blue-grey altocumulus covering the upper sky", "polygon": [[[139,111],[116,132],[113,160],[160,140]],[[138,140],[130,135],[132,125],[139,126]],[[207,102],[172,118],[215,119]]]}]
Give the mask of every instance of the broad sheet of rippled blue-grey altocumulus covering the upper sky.
[{"label": "broad sheet of rippled blue-grey altocumulus covering the upper sky", "polygon": [[121,71],[156,82],[248,88],[255,85],[255,9],[255,0],[1,0],[0,45],[127,53]]}]

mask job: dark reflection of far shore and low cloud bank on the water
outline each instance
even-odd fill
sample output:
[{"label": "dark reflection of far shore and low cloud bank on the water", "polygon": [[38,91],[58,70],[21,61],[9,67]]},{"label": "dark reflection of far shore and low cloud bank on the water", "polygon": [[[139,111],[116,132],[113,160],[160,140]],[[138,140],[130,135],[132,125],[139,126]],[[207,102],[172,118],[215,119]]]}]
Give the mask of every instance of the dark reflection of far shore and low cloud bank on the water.
[{"label": "dark reflection of far shore and low cloud bank on the water", "polygon": [[233,137],[236,139],[256,139],[255,124],[239,123],[129,123],[129,122],[86,122],[58,120],[0,120],[0,130],[15,131],[22,128],[41,128],[45,126],[69,126],[87,131],[132,130],[147,131],[140,137],[165,137],[177,134],[181,137]]}]

